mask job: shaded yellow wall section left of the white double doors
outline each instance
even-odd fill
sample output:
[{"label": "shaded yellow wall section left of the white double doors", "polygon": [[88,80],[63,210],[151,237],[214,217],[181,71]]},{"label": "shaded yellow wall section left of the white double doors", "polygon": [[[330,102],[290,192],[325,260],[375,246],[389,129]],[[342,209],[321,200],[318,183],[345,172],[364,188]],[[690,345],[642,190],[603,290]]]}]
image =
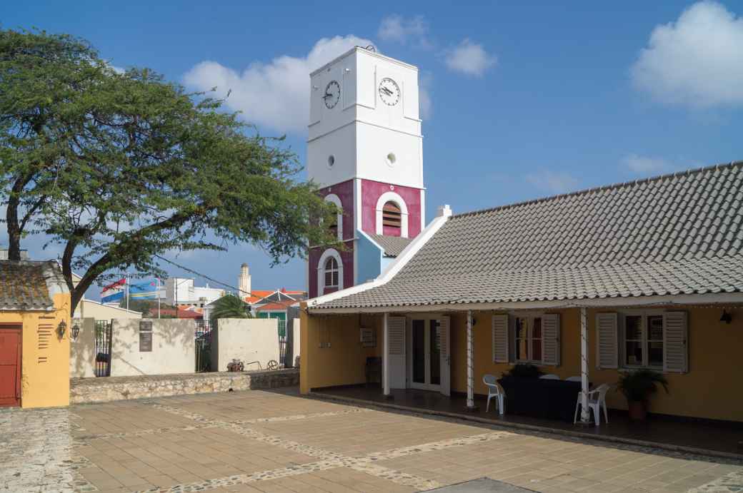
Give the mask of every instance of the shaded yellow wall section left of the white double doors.
[{"label": "shaded yellow wall section left of the white double doors", "polygon": [[[351,385],[366,382],[367,356],[382,354],[382,317],[372,315],[308,316],[301,310],[299,344],[299,387],[302,393],[311,388]],[[360,327],[377,332],[377,346],[363,347]],[[330,347],[319,347],[330,341]]]}]

